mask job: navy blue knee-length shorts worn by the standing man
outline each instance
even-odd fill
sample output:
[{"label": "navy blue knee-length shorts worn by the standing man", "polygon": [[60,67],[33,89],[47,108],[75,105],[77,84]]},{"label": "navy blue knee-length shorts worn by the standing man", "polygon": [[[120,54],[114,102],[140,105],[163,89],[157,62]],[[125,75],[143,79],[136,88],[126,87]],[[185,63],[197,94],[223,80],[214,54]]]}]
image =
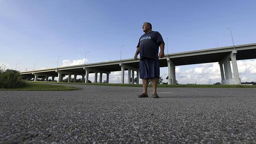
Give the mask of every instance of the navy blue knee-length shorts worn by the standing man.
[{"label": "navy blue knee-length shorts worn by the standing man", "polygon": [[139,65],[140,79],[160,77],[160,64],[157,59],[141,58]]}]

